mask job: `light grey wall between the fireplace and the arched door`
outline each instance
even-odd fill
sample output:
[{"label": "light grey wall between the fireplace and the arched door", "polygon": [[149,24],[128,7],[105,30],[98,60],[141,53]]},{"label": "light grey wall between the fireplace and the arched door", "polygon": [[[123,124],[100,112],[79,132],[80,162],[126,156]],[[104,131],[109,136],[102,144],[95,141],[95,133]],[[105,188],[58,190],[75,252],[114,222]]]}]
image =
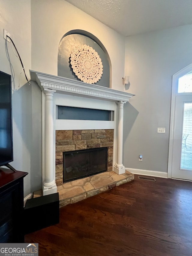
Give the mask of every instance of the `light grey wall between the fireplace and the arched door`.
[{"label": "light grey wall between the fireplace and the arched door", "polygon": [[126,38],[127,92],[136,96],[124,110],[125,167],[167,172],[172,75],[191,63],[191,31],[187,25]]}]

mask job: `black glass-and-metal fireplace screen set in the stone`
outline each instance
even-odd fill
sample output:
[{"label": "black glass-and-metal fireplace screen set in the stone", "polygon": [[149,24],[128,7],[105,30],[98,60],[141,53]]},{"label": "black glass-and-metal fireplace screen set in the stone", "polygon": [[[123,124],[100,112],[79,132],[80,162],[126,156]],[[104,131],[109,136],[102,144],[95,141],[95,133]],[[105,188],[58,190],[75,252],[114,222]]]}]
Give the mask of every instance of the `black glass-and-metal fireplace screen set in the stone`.
[{"label": "black glass-and-metal fireplace screen set in the stone", "polygon": [[107,171],[107,147],[63,152],[63,182]]}]

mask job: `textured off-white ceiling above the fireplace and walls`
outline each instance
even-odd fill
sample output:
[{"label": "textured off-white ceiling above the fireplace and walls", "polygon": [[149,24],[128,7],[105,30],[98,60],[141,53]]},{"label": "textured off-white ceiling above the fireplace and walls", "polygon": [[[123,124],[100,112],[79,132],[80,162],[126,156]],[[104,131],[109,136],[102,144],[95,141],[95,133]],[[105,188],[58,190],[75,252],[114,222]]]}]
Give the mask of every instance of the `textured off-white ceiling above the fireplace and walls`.
[{"label": "textured off-white ceiling above the fireplace and walls", "polygon": [[66,0],[124,36],[192,24],[191,0]]}]

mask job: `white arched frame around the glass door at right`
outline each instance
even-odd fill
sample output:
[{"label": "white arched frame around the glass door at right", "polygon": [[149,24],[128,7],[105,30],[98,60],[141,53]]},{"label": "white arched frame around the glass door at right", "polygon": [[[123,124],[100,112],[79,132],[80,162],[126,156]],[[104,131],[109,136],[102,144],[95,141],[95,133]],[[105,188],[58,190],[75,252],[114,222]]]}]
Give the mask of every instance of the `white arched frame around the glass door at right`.
[{"label": "white arched frame around the glass door at right", "polygon": [[174,139],[174,125],[175,125],[175,110],[176,110],[176,96],[187,96],[189,93],[178,93],[178,80],[180,77],[192,71],[192,63],[172,76],[172,94],[171,94],[171,114],[170,114],[170,134],[169,134],[169,155],[167,177],[172,178],[173,167],[173,139]]}]

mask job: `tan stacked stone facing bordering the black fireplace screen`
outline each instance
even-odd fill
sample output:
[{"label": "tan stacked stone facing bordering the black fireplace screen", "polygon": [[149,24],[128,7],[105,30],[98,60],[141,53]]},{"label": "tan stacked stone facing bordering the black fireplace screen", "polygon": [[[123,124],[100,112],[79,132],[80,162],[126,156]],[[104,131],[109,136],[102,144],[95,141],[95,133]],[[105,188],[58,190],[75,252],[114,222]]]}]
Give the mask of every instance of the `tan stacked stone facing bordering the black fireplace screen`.
[{"label": "tan stacked stone facing bordering the black fireplace screen", "polygon": [[107,171],[113,166],[113,130],[63,130],[55,137],[55,182],[63,184],[63,152],[107,147]]}]

